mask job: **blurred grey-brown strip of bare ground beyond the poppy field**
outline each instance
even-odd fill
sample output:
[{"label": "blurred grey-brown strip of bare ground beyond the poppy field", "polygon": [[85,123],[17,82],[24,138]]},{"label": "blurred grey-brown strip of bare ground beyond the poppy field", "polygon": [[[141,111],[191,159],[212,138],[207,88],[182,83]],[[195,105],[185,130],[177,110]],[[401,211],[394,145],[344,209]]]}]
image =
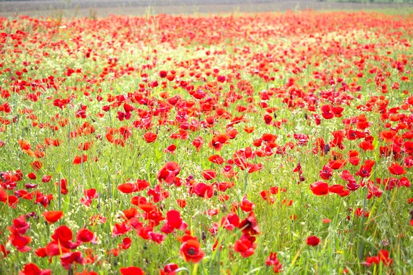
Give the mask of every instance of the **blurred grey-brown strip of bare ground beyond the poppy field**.
[{"label": "blurred grey-brown strip of bare ground beyond the poppy field", "polygon": [[105,17],[285,10],[412,9],[413,0],[0,0],[0,16]]}]

